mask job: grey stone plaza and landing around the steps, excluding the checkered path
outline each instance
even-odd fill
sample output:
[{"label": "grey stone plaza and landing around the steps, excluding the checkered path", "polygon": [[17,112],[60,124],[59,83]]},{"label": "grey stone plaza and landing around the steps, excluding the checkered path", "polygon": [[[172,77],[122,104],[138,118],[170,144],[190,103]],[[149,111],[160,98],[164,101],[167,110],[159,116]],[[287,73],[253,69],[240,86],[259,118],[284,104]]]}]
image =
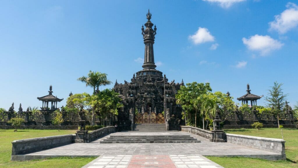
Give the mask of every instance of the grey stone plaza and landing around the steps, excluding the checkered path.
[{"label": "grey stone plaza and landing around the steps, excluding the checkered path", "polygon": [[[110,135],[191,135],[201,143],[99,143]],[[72,143],[25,155],[100,156],[100,155],[276,155],[232,143],[213,143],[186,132],[116,132],[93,143]]]}]

